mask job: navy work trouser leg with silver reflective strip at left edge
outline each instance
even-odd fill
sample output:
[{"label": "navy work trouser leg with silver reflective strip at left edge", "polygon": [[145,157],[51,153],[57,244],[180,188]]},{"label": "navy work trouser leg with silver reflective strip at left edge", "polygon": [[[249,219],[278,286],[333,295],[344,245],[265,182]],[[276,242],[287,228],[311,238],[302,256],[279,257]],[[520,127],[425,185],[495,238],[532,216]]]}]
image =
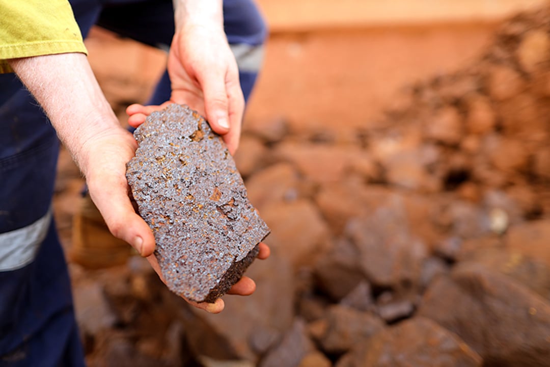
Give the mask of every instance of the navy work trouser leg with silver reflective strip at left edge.
[{"label": "navy work trouser leg with silver reflective strip at left edge", "polygon": [[[100,13],[74,0],[83,35]],[[0,366],[84,365],[51,202],[59,141],[14,74],[0,75]]]}]

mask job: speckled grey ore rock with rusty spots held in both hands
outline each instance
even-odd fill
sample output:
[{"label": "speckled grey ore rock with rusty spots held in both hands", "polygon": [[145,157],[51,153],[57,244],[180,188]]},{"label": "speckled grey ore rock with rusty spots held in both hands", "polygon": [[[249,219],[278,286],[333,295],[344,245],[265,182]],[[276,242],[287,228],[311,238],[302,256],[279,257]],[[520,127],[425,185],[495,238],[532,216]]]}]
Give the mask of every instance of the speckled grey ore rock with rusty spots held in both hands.
[{"label": "speckled grey ore rock with rusty spots held in both hands", "polygon": [[134,136],[139,147],[126,177],[155,234],[168,288],[214,302],[240,279],[270,230],[221,137],[195,111],[169,105]]}]

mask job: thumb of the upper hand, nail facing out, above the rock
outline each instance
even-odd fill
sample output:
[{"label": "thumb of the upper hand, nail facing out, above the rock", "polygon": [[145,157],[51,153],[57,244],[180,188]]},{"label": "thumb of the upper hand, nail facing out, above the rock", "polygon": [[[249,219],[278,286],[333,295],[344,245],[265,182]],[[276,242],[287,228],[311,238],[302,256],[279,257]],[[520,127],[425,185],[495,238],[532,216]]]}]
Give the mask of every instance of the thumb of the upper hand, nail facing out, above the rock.
[{"label": "thumb of the upper hand, nail facing out, above the rock", "polygon": [[206,119],[212,130],[220,135],[229,132],[228,98],[225,75],[207,73],[199,80],[204,92]]}]

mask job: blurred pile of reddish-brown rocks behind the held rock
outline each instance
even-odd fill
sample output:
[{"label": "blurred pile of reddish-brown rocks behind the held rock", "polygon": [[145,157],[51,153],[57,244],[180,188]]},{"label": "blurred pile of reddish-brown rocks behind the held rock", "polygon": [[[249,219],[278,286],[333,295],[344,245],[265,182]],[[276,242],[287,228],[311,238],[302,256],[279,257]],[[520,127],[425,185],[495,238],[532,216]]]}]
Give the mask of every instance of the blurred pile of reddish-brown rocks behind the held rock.
[{"label": "blurred pile of reddish-brown rocks behind the held rock", "polygon": [[550,9],[360,131],[245,127],[272,229],[250,297],[210,315],[141,261],[72,267],[90,365],[548,366]]}]

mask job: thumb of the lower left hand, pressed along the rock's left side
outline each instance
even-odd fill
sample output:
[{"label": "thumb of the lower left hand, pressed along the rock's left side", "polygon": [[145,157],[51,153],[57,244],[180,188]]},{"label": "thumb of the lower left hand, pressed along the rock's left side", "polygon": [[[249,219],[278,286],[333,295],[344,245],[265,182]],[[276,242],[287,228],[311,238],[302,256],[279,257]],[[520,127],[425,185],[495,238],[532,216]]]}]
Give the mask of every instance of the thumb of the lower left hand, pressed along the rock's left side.
[{"label": "thumb of the lower left hand, pressed along the rock's left side", "polygon": [[149,256],[155,250],[155,237],[147,223],[134,211],[126,180],[115,179],[114,175],[107,175],[98,189],[96,184],[89,184],[92,200],[115,237],[128,242],[141,256]]}]

